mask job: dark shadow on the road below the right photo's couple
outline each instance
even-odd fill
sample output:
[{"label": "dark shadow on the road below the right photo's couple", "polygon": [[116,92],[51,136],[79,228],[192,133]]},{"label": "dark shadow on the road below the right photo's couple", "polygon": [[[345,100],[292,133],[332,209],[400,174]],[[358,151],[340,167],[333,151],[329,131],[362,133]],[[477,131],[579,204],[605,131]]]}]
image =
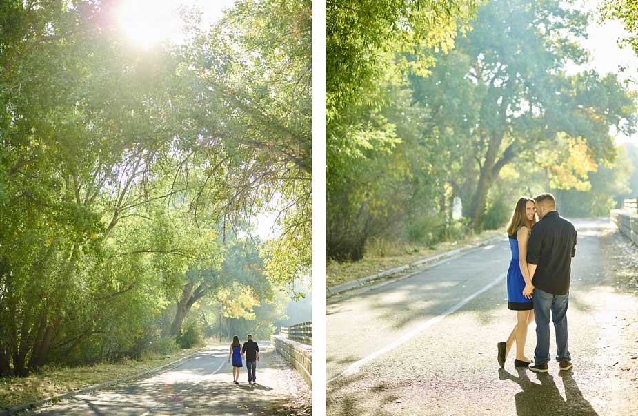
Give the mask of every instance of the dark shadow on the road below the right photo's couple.
[{"label": "dark shadow on the road below the right photo's couple", "polygon": [[537,415],[578,415],[598,416],[596,410],[583,397],[571,371],[561,371],[559,377],[565,387],[565,399],[561,396],[554,382],[554,376],[548,373],[535,373],[540,384],[532,382],[528,370],[517,368],[518,377],[504,368],[499,368],[499,379],[512,380],[521,386],[523,391],[514,395],[517,416]]}]

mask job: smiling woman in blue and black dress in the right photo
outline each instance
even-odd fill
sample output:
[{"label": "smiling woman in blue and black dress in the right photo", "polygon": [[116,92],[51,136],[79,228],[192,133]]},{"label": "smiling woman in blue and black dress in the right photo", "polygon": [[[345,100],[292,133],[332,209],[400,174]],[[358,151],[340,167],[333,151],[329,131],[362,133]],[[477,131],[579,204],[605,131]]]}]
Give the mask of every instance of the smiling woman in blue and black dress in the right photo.
[{"label": "smiling woman in blue and black dress in the right photo", "polygon": [[498,361],[501,368],[514,342],[516,357],[514,366],[527,367],[531,360],[525,356],[527,327],[534,320],[532,292],[534,285],[527,265],[527,242],[536,223],[536,204],[532,198],[521,197],[508,224],[508,240],[512,260],[507,274],[508,308],[516,311],[516,325],[506,342],[498,343]]}]

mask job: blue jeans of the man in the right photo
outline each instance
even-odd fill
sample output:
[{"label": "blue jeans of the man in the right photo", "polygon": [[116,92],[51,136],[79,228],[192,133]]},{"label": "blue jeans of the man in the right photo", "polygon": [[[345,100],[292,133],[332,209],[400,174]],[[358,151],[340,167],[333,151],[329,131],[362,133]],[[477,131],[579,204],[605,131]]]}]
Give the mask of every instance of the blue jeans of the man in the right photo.
[{"label": "blue jeans of the man in the right photo", "polygon": [[535,364],[543,364],[550,358],[550,312],[556,331],[556,360],[570,361],[567,340],[567,295],[552,295],[541,289],[534,289],[534,316],[536,319]]}]

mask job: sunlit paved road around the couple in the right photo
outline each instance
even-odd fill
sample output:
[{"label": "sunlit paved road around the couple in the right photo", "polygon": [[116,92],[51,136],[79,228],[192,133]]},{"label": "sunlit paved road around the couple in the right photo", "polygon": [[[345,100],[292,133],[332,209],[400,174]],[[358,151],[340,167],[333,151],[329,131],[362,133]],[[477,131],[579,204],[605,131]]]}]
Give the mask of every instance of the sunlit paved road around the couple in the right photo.
[{"label": "sunlit paved road around the couple in the right photo", "polygon": [[[612,286],[608,219],[575,221],[568,319],[574,370],[499,371],[496,344],[515,324],[504,273],[506,238],[410,278],[332,297],[326,305],[328,415],[638,415],[637,298]],[[638,332],[635,332],[638,333]],[[535,325],[526,353],[533,356]],[[553,329],[552,329],[553,340]],[[552,354],[555,346],[552,341]],[[620,364],[615,364],[620,363]],[[629,369],[629,368],[626,368]],[[630,393],[633,392],[633,393]]]}]

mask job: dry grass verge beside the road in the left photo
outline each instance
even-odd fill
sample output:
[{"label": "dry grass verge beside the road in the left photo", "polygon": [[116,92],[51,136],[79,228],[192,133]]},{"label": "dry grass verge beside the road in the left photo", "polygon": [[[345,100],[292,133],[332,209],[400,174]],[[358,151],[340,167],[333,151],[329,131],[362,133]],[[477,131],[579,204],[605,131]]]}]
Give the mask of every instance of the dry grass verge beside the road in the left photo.
[{"label": "dry grass verge beside the road in the left photo", "polygon": [[163,355],[148,353],[144,354],[141,360],[103,362],[94,366],[44,366],[39,374],[32,374],[29,377],[0,377],[0,408],[19,406],[141,373],[186,357],[198,350],[199,348],[192,348]]}]

